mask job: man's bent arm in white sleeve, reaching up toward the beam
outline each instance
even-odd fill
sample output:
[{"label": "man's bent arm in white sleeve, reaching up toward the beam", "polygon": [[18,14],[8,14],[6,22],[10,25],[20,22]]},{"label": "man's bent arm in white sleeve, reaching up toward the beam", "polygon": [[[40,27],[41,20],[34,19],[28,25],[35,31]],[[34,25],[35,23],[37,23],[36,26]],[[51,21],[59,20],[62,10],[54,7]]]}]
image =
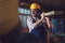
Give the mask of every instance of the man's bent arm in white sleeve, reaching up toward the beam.
[{"label": "man's bent arm in white sleeve, reaching up toward the beam", "polygon": [[42,22],[42,18],[39,19],[39,20],[36,22],[36,23],[32,23],[32,20],[27,19],[27,26],[28,26],[28,28],[29,28],[29,32],[31,32],[31,30],[32,30],[34,28],[38,28],[38,26],[40,25],[41,22]]}]

